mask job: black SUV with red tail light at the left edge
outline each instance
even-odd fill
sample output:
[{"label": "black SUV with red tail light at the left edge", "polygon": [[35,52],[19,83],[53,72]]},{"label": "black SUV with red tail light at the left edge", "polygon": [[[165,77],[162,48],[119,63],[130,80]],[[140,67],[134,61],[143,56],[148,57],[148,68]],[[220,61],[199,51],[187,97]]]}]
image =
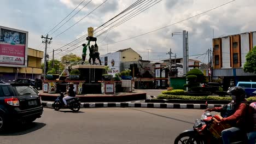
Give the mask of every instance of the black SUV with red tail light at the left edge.
[{"label": "black SUV with red tail light at the left edge", "polygon": [[0,131],[11,122],[33,122],[42,113],[41,99],[33,87],[27,83],[0,83]]}]

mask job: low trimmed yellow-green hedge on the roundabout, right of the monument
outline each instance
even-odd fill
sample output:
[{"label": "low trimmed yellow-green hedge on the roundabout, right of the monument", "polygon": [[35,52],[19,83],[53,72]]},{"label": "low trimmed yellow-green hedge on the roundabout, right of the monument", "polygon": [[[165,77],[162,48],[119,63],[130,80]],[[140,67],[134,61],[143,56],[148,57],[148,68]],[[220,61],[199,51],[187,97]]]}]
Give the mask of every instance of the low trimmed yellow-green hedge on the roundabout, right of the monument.
[{"label": "low trimmed yellow-green hedge on the roundabout, right of the monument", "polygon": [[[172,91],[162,91],[158,99],[179,99],[179,100],[231,100],[231,97],[218,97],[218,96],[188,96],[182,89],[175,89]],[[256,97],[250,97],[247,101],[256,101]]]}]

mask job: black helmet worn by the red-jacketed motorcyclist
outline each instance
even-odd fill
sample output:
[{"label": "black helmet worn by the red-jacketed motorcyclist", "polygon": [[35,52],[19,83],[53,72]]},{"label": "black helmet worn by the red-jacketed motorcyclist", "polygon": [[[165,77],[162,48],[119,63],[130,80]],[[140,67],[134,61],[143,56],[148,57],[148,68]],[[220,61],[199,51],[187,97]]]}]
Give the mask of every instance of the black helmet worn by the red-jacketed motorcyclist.
[{"label": "black helmet worn by the red-jacketed motorcyclist", "polygon": [[245,99],[245,95],[246,95],[245,89],[242,87],[232,87],[228,90],[227,93],[230,94],[232,97],[232,100],[235,100],[235,101],[241,101]]}]

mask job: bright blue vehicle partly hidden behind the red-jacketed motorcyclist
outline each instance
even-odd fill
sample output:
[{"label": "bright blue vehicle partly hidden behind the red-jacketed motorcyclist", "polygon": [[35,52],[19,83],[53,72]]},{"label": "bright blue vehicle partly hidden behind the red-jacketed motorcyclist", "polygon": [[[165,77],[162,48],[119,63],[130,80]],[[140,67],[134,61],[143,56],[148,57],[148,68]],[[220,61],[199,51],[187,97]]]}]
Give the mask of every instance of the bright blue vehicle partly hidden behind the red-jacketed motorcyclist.
[{"label": "bright blue vehicle partly hidden behind the red-jacketed motorcyclist", "polygon": [[245,88],[247,98],[252,97],[252,96],[255,95],[253,92],[256,91],[256,82],[240,81],[240,82],[237,83],[236,86],[240,86],[240,87]]}]

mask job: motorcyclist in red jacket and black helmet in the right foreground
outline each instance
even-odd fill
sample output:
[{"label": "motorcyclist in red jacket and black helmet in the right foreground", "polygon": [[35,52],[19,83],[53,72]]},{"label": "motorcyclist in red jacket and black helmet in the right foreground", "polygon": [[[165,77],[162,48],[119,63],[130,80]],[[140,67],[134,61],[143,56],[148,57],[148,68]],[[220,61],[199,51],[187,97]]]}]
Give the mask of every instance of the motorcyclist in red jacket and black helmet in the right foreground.
[{"label": "motorcyclist in red jacket and black helmet in the right foreground", "polygon": [[[207,109],[208,111],[217,111],[225,113],[226,115],[221,121],[217,123],[231,124],[231,128],[222,131],[223,143],[230,143],[232,136],[236,135],[239,131],[246,128],[246,111],[247,101],[245,100],[245,89],[242,87],[232,87],[228,90],[228,94],[231,95],[232,101],[229,109],[223,107],[214,107],[214,109]],[[228,107],[228,106],[227,106]]]}]

